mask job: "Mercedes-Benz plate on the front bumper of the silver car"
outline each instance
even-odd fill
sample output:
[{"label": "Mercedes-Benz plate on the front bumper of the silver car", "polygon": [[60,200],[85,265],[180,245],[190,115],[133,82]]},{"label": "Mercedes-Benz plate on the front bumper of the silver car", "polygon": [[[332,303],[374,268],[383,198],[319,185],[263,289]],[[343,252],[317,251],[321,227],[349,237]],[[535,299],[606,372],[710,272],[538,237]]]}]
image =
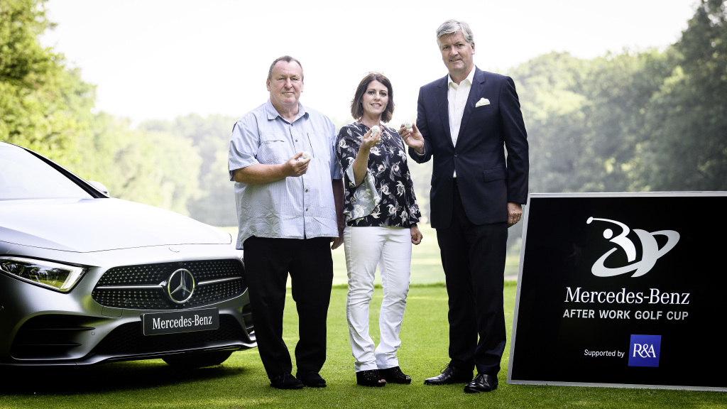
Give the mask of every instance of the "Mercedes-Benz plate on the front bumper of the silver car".
[{"label": "Mercedes-Benz plate on the front bumper of the silver car", "polygon": [[142,314],[144,335],[190,333],[220,328],[216,308]]}]

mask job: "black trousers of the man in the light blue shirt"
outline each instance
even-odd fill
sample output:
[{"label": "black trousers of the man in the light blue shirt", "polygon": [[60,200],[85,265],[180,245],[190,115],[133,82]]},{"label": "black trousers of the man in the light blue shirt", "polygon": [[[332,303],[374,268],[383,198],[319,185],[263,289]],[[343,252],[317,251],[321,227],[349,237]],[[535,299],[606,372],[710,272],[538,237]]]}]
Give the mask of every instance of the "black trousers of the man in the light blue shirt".
[{"label": "black trousers of the man in the light blue shirt", "polygon": [[292,373],[290,353],[283,341],[288,274],[298,313],[297,370],[320,372],[326,362],[326,319],[333,282],[330,244],[329,237],[250,237],[244,242],[245,279],[257,350],[270,379]]}]

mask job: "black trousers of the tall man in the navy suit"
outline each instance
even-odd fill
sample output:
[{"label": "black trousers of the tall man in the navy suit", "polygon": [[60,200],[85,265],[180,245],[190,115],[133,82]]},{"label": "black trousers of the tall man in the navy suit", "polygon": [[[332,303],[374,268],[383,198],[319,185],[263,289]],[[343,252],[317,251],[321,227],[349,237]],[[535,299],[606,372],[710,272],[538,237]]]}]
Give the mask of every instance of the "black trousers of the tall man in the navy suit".
[{"label": "black trousers of the tall man in the navy suit", "polygon": [[449,295],[449,365],[497,376],[505,351],[507,223],[473,224],[454,179],[452,220],[437,229]]}]

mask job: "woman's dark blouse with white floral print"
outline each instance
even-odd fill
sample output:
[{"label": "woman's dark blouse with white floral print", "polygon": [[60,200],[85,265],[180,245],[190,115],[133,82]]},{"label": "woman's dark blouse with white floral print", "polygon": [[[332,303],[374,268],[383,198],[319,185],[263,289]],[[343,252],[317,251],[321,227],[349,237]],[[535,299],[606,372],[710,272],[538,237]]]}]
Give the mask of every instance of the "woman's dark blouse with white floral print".
[{"label": "woman's dark blouse with white floral print", "polygon": [[406,164],[406,146],[392,127],[382,127],[381,143],[369,151],[364,181],[354,186],[353,161],[369,127],[359,122],[338,132],[336,154],[344,172],[343,214],[348,226],[410,227],[419,223],[417,197]]}]

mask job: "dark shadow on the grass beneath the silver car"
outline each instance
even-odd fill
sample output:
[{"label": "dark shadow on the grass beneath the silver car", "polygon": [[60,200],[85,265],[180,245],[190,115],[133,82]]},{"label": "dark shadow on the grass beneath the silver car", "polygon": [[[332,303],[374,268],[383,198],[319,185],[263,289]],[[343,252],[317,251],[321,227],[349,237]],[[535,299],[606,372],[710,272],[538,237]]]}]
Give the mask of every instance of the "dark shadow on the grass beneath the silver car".
[{"label": "dark shadow on the grass beneath the silver car", "polygon": [[112,362],[89,366],[2,368],[0,395],[89,394],[183,386],[245,373],[240,366],[182,369],[157,361]]}]

